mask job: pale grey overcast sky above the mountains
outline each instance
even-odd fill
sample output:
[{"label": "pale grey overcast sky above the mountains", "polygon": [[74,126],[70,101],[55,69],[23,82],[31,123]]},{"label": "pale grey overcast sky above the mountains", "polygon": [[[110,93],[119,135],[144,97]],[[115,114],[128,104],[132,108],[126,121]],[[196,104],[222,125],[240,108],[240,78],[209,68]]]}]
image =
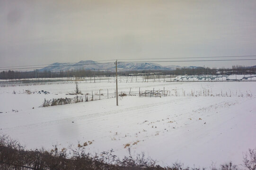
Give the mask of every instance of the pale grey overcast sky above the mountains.
[{"label": "pale grey overcast sky above the mountains", "polygon": [[256,0],[0,0],[0,67],[233,55],[256,55]]}]

